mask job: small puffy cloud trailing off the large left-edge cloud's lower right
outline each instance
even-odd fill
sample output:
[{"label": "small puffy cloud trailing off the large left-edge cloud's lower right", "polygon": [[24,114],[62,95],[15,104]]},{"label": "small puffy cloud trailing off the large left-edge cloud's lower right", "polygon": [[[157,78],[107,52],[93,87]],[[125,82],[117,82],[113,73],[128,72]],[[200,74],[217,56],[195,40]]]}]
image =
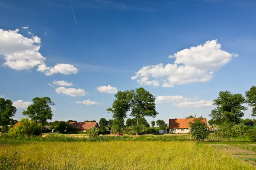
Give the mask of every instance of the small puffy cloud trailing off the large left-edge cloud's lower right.
[{"label": "small puffy cloud trailing off the large left-edge cloud's lower right", "polygon": [[45,64],[38,65],[38,71],[41,71],[42,73],[45,73],[45,75],[50,76],[52,74],[77,74],[78,69],[71,64],[57,64],[54,67],[46,67]]}]

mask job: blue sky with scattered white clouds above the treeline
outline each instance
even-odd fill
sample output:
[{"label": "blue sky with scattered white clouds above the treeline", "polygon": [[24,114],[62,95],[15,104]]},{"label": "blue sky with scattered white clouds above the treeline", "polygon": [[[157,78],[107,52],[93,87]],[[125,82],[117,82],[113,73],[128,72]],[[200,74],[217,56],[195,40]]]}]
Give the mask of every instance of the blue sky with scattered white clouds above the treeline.
[{"label": "blue sky with scattered white clouds above the treeline", "polygon": [[0,96],[15,119],[36,96],[55,102],[53,120],[111,119],[116,90],[138,87],[157,97],[155,120],[209,119],[219,91],[256,84],[253,0],[71,3],[76,21],[69,0],[0,2]]}]

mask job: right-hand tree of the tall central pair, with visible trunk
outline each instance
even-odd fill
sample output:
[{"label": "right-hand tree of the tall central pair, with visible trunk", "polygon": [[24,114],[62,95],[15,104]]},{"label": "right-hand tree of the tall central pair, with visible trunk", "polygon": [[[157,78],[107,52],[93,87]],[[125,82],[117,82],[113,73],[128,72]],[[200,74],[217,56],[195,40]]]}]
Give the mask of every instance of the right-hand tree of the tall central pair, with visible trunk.
[{"label": "right-hand tree of the tall central pair, with visible trunk", "polygon": [[[131,116],[137,119],[137,126],[139,126],[139,119],[145,116],[155,118],[159,113],[155,107],[155,96],[144,88],[136,88],[131,91]],[[139,131],[137,131],[137,135]]]}]

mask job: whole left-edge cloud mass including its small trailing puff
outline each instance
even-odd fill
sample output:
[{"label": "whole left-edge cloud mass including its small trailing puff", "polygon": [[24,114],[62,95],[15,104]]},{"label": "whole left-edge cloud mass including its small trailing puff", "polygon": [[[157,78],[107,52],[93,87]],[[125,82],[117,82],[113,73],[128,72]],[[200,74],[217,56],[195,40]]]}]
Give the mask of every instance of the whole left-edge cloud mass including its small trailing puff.
[{"label": "whole left-edge cloud mass including its small trailing puff", "polygon": [[[25,28],[25,27],[23,27]],[[0,55],[5,62],[3,66],[15,70],[29,70],[38,66],[37,71],[49,76],[52,74],[76,74],[78,69],[70,64],[57,64],[47,67],[44,63],[46,57],[39,52],[41,38],[29,32],[29,37],[24,37],[16,30],[0,29]]]}]

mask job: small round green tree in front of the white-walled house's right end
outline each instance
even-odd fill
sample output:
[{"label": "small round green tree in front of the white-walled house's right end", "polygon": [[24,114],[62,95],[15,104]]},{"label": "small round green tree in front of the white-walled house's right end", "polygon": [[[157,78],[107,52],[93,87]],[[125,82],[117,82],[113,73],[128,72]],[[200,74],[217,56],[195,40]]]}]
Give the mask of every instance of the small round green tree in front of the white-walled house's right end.
[{"label": "small round green tree in front of the white-walled house's right end", "polygon": [[189,133],[197,140],[204,140],[209,136],[210,130],[207,123],[203,122],[203,117],[194,118],[193,122],[189,122]]}]

